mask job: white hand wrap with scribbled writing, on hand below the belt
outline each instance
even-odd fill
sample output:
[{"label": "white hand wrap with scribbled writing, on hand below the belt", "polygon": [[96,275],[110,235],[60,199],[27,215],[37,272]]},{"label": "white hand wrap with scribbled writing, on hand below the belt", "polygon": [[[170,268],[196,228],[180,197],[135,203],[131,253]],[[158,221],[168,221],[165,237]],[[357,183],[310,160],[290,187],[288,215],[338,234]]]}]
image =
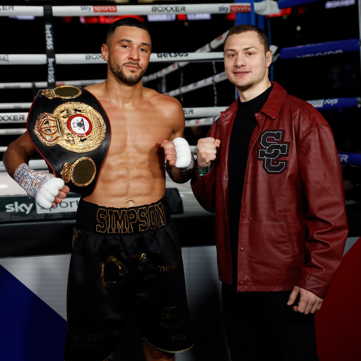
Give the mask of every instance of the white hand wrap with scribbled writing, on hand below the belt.
[{"label": "white hand wrap with scribbled writing, on hand below the belt", "polygon": [[25,163],[18,166],[14,173],[14,180],[25,189],[30,198],[35,199],[35,202],[45,209],[51,208],[59,190],[64,187],[64,181],[61,178],[56,178],[54,174],[47,171],[39,173]]}]

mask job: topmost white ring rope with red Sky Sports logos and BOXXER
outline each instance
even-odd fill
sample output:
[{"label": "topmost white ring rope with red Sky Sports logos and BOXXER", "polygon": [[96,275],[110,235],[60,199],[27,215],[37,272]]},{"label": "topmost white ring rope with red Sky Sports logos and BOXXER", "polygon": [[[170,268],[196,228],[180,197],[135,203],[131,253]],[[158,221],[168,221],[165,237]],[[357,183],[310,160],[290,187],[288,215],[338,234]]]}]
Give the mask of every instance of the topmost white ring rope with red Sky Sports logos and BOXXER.
[{"label": "topmost white ring rope with red Sky Sports logos and BOXXER", "polygon": [[[249,13],[251,3],[234,4],[167,4],[167,5],[69,5],[52,6],[52,14],[60,16],[114,16],[114,15],[148,15],[148,14],[229,14]],[[0,16],[32,15],[44,16],[43,6],[0,5]],[[280,13],[277,1],[264,0],[253,4],[257,15]]]}]

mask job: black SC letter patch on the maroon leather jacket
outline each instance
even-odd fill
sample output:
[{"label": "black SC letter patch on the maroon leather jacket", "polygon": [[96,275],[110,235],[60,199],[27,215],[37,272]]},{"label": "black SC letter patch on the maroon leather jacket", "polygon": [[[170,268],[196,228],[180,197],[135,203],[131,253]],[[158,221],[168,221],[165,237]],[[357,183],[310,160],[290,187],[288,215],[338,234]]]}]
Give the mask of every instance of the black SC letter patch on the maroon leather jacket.
[{"label": "black SC letter patch on the maroon leather jacket", "polygon": [[269,174],[281,174],[287,169],[287,160],[279,161],[281,157],[288,157],[289,142],[283,142],[283,130],[268,129],[258,139],[261,146],[257,149],[257,160],[263,161],[263,169]]}]

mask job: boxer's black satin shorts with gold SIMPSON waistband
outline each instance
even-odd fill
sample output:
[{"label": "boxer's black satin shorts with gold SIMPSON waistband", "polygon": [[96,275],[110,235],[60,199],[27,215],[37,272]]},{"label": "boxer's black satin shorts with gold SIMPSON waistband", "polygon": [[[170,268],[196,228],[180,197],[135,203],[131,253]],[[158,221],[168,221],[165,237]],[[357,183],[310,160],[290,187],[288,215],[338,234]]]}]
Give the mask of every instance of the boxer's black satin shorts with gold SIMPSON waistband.
[{"label": "boxer's black satin shorts with gold SIMPSON waistband", "polygon": [[70,260],[64,359],[112,353],[129,307],[144,340],[166,352],[193,346],[182,251],[166,198],[106,208],[79,201]]}]

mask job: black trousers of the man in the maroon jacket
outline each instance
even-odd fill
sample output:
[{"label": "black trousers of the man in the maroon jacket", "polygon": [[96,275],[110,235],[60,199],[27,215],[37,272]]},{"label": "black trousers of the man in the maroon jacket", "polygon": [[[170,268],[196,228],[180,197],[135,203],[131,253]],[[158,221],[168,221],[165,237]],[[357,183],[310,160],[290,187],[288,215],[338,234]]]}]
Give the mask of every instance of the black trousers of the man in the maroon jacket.
[{"label": "black trousers of the man in the maroon jacket", "polygon": [[297,313],[288,306],[290,293],[236,292],[234,285],[222,283],[223,322],[232,361],[318,361],[314,314]]}]

